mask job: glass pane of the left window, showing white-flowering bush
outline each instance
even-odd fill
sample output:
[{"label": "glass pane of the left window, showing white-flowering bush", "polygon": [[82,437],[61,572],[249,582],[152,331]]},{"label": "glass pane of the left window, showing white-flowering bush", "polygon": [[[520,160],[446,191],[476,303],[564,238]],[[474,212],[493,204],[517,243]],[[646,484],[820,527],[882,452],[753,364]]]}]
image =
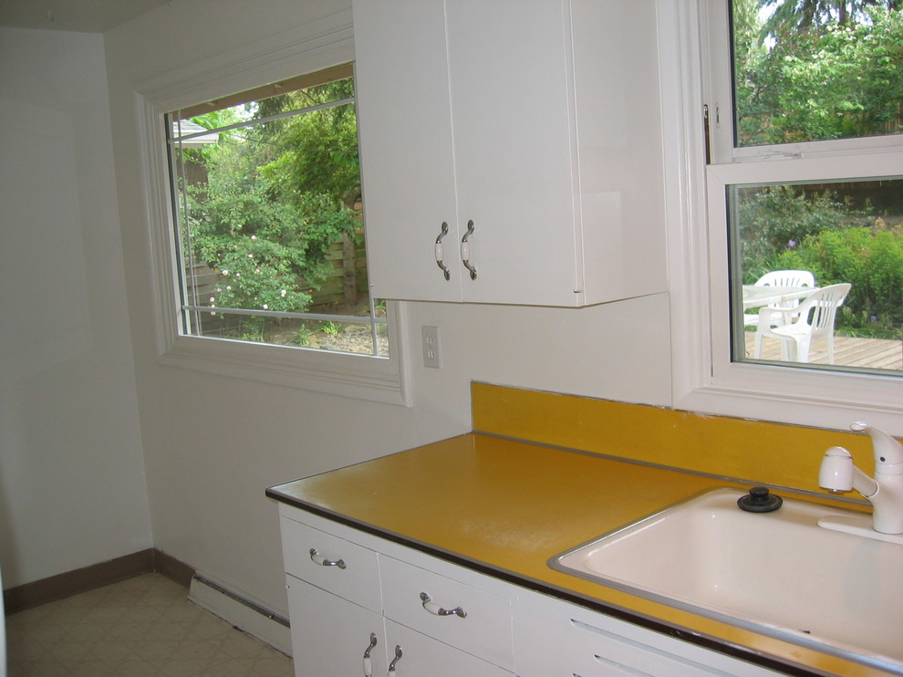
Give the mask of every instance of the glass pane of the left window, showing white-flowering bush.
[{"label": "glass pane of the left window, showing white-flowering bush", "polygon": [[353,79],[269,94],[168,116],[182,331],[388,357],[385,307],[368,297]]}]

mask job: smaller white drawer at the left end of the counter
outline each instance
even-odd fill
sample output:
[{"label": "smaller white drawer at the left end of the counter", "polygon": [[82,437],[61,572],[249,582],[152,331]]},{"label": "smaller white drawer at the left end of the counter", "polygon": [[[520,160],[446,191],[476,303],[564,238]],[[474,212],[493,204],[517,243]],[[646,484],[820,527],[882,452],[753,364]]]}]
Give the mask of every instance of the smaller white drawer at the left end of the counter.
[{"label": "smaller white drawer at the left end of the counter", "polygon": [[[379,558],[373,550],[282,517],[285,573],[306,580],[365,609],[382,612]],[[316,555],[311,557],[311,550]],[[341,562],[324,566],[319,561]]]}]

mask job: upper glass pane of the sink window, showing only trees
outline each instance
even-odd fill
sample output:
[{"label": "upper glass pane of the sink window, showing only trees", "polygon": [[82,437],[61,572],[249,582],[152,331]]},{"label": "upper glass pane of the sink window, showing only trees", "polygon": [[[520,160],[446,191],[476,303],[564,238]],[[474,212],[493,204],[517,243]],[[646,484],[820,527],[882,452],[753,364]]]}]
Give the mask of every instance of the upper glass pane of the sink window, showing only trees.
[{"label": "upper glass pane of the sink window, showing only trees", "polygon": [[735,145],[900,133],[899,5],[733,0]]}]

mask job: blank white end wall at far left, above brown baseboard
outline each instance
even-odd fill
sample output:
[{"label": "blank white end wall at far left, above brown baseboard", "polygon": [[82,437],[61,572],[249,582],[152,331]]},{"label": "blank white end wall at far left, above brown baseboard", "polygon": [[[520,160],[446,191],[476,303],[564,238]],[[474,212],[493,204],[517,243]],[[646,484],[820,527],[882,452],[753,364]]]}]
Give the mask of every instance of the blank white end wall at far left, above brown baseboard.
[{"label": "blank white end wall at far left, above brown baseboard", "polygon": [[0,564],[152,545],[100,36],[0,28]]}]

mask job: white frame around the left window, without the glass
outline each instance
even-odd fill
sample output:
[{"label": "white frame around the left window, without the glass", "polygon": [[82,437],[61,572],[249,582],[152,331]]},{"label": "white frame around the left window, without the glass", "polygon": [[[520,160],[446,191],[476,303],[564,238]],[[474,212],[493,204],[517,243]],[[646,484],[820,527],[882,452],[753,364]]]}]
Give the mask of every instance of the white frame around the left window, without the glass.
[{"label": "white frame around the left window, without the glass", "polygon": [[[313,35],[311,35],[313,32]],[[289,31],[144,83],[135,104],[150,232],[150,272],[157,361],[244,380],[410,406],[405,368],[405,305],[387,302],[390,357],[274,346],[182,334],[179,269],[172,214],[164,115],[354,60],[350,12]]]}]

